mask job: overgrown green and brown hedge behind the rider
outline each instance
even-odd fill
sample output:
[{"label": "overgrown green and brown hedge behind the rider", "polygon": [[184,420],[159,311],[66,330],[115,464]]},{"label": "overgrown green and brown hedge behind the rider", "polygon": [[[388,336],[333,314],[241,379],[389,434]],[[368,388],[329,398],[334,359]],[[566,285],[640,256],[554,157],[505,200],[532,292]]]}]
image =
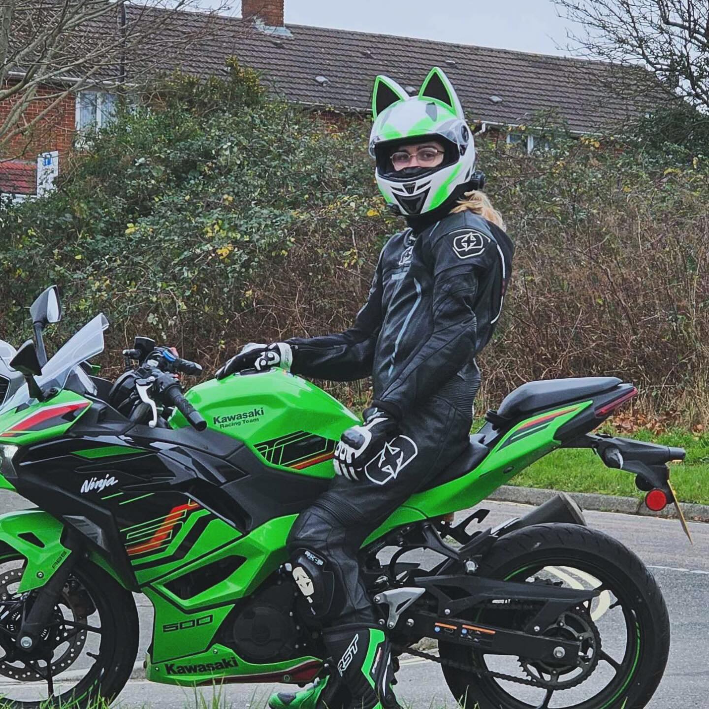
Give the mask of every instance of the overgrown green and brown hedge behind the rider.
[{"label": "overgrown green and brown hedge behind the rider", "polygon": [[[213,366],[249,340],[347,326],[403,225],[383,211],[367,131],[267,99],[235,63],[228,79],[163,82],[60,189],[0,211],[0,337],[28,333],[24,308],[52,282],[67,311],[55,340],[104,311],[113,364],[135,333]],[[483,405],[529,379],[617,374],[646,408],[706,418],[707,161],[657,136],[557,132],[532,155],[504,138],[477,136],[517,244]]]}]

